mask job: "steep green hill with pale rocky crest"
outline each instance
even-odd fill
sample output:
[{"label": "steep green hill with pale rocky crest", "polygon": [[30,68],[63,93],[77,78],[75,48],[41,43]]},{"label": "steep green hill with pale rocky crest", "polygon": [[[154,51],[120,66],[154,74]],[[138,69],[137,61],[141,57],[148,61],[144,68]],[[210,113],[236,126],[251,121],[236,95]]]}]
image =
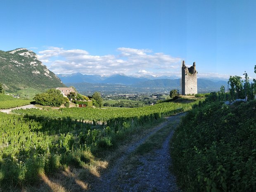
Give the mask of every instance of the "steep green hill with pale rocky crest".
[{"label": "steep green hill with pale rocky crest", "polygon": [[38,60],[36,53],[26,48],[0,50],[0,82],[8,92],[24,88],[46,90],[66,87],[60,79]]}]

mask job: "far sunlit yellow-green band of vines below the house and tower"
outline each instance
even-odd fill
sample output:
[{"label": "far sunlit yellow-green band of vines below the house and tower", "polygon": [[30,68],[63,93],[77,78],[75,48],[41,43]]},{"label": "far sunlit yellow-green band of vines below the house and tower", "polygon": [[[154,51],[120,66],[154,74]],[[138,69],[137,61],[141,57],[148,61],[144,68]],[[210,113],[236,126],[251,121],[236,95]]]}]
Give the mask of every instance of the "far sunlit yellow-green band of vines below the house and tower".
[{"label": "far sunlit yellow-green band of vines below the house and tower", "polygon": [[108,121],[115,118],[131,118],[147,116],[154,113],[160,115],[173,115],[178,112],[187,111],[192,108],[194,103],[180,104],[173,102],[160,103],[152,106],[139,107],[139,108],[62,108],[55,109],[19,109],[14,112],[37,117],[50,117],[58,118],[71,118],[73,120],[87,120],[87,121]]}]

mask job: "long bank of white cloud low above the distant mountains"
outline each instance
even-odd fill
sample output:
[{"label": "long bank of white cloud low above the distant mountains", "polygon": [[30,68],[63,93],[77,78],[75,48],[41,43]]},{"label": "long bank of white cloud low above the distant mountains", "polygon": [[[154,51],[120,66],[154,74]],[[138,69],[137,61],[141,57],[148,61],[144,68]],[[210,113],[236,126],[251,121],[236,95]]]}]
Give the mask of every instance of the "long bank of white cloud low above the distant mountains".
[{"label": "long bank of white cloud low above the distant mountains", "polygon": [[[86,50],[64,50],[60,47],[47,47],[38,52],[38,58],[55,73],[83,73],[111,75],[125,73],[158,74],[173,70],[179,71],[181,59],[153,53],[149,49],[117,48],[119,55],[90,55]],[[152,71],[152,72],[149,72]],[[170,75],[170,74],[169,74]]]}]

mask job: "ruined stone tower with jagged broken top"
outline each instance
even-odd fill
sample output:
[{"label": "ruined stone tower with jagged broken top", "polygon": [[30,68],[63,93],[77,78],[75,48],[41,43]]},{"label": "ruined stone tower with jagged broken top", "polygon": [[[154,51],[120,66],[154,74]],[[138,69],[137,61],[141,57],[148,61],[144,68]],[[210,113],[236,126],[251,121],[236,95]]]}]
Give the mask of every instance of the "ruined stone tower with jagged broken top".
[{"label": "ruined stone tower with jagged broken top", "polygon": [[187,68],[185,66],[185,61],[182,63],[181,68],[181,92],[182,95],[197,94],[197,71],[196,62],[193,66]]}]

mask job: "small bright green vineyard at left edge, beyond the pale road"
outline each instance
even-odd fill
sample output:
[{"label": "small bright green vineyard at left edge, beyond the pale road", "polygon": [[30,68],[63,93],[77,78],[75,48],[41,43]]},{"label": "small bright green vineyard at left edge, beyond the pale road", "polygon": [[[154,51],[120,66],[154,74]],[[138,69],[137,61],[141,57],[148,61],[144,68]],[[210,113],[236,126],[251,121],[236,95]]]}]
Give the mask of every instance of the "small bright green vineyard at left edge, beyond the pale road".
[{"label": "small bright green vineyard at left edge, beyond the pale road", "polygon": [[30,104],[31,100],[21,100],[10,95],[0,94],[0,109],[9,109]]}]

